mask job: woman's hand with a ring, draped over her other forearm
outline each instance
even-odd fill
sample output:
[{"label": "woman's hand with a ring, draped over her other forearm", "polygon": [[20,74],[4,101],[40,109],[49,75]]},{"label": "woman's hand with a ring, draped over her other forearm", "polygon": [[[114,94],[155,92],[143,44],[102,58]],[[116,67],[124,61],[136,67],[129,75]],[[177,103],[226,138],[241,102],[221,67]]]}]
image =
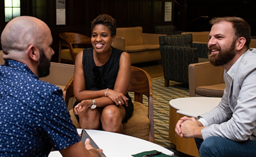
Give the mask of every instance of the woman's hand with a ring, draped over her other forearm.
[{"label": "woman's hand with a ring, draped over her other forearm", "polygon": [[115,90],[111,90],[108,89],[108,92],[106,93],[106,96],[111,99],[113,102],[115,102],[115,104],[117,106],[119,105],[126,105],[128,106],[128,98],[126,98],[125,95],[123,95],[122,93],[115,91]]}]

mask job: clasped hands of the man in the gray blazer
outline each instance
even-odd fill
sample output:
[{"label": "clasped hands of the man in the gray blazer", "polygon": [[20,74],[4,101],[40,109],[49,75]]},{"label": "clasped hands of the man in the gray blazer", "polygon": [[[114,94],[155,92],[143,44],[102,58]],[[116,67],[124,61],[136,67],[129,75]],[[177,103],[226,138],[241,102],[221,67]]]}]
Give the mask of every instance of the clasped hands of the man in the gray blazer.
[{"label": "clasped hands of the man in the gray blazer", "polygon": [[202,138],[201,130],[204,127],[202,126],[202,123],[197,121],[195,118],[191,117],[182,117],[180,120],[178,120],[175,132],[180,137],[186,137],[186,138]]}]

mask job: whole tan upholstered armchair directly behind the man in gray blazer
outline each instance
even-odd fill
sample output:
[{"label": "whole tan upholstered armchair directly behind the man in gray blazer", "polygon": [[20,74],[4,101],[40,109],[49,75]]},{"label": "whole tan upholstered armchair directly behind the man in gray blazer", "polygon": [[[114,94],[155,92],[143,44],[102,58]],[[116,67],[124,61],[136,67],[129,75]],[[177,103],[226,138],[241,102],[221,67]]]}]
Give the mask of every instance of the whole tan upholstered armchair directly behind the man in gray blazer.
[{"label": "whole tan upholstered armchair directly behind the man in gray blazer", "polygon": [[189,65],[190,97],[222,97],[225,89],[224,68],[210,62]]}]

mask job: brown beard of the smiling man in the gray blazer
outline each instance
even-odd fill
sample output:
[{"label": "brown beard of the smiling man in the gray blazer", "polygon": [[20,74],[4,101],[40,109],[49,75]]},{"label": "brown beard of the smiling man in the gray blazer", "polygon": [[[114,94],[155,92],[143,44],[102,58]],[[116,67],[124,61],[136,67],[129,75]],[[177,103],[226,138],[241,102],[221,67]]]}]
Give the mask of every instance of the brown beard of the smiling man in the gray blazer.
[{"label": "brown beard of the smiling man in the gray blazer", "polygon": [[[219,53],[211,54],[211,49],[219,49]],[[213,66],[223,66],[232,60],[236,55],[236,40],[228,49],[221,49],[221,47],[210,46],[208,51],[208,58]]]}]

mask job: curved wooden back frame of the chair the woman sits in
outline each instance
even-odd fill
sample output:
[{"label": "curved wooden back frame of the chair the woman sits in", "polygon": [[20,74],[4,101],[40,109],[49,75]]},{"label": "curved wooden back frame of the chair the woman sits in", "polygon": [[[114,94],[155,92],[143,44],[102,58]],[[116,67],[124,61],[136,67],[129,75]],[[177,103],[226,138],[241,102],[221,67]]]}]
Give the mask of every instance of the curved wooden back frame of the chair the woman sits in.
[{"label": "curved wooden back frame of the chair the woman sits in", "polygon": [[[129,92],[134,92],[134,101],[140,102],[143,107],[145,107],[143,103],[143,95],[148,98],[148,119],[149,119],[149,130],[148,130],[148,141],[154,142],[154,111],[153,111],[153,89],[152,89],[152,81],[149,74],[141,69],[132,66],[131,70],[131,79],[128,87]],[[69,104],[69,99],[74,96],[73,91],[73,78],[70,79],[69,83],[63,90],[63,98],[65,102],[70,108],[72,104]],[[69,111],[71,115],[71,119],[76,127],[79,127],[77,120],[74,117],[74,113],[72,110]],[[134,111],[135,112],[135,111]],[[128,122],[127,122],[128,123]],[[125,129],[125,128],[124,128]],[[133,129],[132,129],[133,130]],[[132,133],[129,135],[132,135]]]}]

